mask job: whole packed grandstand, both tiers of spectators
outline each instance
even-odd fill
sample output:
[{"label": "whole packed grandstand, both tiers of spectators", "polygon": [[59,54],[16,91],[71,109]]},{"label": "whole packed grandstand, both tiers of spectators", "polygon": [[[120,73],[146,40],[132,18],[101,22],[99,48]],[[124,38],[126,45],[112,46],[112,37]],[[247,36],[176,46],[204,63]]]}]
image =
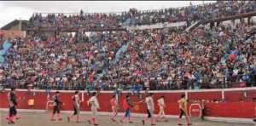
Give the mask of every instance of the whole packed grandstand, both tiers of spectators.
[{"label": "whole packed grandstand, both tiers of spectators", "polygon": [[[12,45],[3,54],[1,82],[79,90],[256,86],[255,22],[203,24],[255,10],[255,1],[229,1],[116,14],[33,14],[26,37],[5,38]],[[185,28],[108,31],[181,21]],[[201,26],[186,30],[195,22]]]}]

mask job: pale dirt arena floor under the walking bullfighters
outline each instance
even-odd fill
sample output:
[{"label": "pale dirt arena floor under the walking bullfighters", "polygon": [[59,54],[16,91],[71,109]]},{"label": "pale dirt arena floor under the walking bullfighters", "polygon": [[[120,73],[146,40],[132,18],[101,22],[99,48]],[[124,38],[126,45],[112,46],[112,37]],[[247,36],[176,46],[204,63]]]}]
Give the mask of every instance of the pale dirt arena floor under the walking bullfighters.
[{"label": "pale dirt arena floor under the walking bullfighters", "polygon": [[[15,120],[15,124],[8,124],[8,120],[6,120],[6,112],[0,112],[1,114],[1,123],[0,126],[6,125],[17,125],[17,126],[84,126],[89,125],[87,119],[90,115],[81,115],[80,121],[81,123],[75,123],[76,117],[71,118],[70,123],[67,122],[67,114],[61,114],[63,120],[57,120],[57,115],[55,115],[56,121],[51,121],[51,113],[19,113],[20,119]],[[133,123],[128,123],[128,119],[125,118],[124,123],[120,123],[120,117],[116,117],[116,122],[112,122],[110,116],[99,116],[97,117],[96,123],[102,126],[143,126],[142,119],[143,117],[131,117],[131,121]],[[191,118],[193,125],[195,126],[255,126],[253,123],[221,123],[221,122],[212,122],[212,121],[202,121],[197,117]],[[145,122],[145,125],[150,125],[150,120],[148,119]],[[157,122],[156,125],[159,126],[176,126],[177,119],[169,119],[168,122],[164,122],[163,119],[160,119],[160,122]],[[183,119],[183,125],[187,125],[185,120]]]}]

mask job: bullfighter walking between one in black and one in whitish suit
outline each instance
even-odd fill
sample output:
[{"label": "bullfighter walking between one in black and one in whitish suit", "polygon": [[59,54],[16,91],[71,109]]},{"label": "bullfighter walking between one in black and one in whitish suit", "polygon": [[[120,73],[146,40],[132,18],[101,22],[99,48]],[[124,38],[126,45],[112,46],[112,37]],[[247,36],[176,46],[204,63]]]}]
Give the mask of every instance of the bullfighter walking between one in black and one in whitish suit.
[{"label": "bullfighter walking between one in black and one in whitish suit", "polygon": [[74,115],[77,115],[77,123],[80,123],[79,121],[79,106],[80,106],[80,102],[79,102],[79,91],[75,91],[75,95],[73,95],[72,97],[73,100],[73,114],[71,114],[70,116],[67,117],[67,121],[70,121],[70,117],[73,117]]}]

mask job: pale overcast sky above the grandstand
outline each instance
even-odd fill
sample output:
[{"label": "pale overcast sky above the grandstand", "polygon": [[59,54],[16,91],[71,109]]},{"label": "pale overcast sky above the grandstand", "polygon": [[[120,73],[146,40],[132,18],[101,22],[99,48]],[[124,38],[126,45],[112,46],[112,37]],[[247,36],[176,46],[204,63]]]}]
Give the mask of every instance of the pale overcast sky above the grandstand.
[{"label": "pale overcast sky above the grandstand", "polygon": [[[192,1],[193,5],[216,1]],[[189,6],[190,1],[0,1],[0,28],[13,20],[29,20],[37,13],[108,13]]]}]

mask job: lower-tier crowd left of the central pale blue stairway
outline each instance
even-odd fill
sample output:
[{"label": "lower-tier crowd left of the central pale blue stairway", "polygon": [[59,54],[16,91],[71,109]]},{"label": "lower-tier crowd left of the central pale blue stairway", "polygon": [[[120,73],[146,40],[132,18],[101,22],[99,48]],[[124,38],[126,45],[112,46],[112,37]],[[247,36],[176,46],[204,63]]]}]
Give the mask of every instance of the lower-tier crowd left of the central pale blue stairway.
[{"label": "lower-tier crowd left of the central pale blue stairway", "polygon": [[[44,40],[46,39],[46,40]],[[92,32],[74,36],[61,32],[56,37],[15,37],[4,54],[2,83],[26,86],[37,83],[57,89],[84,88],[96,80],[102,68],[110,66],[119,48],[130,39],[127,31]]]}]

